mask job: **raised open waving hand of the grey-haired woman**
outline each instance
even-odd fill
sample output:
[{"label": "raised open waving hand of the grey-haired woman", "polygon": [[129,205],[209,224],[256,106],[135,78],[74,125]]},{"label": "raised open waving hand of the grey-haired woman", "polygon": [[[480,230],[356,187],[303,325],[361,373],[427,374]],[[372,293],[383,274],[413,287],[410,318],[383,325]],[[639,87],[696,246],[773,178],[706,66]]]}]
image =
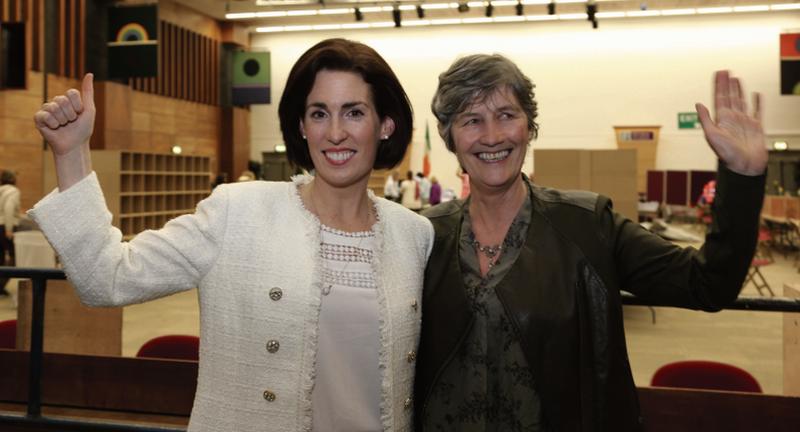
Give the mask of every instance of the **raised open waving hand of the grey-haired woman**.
[{"label": "raised open waving hand of the grey-haired woman", "polygon": [[761,125],[761,98],[753,94],[753,114],[747,112],[738,78],[728,71],[717,71],[714,79],[714,112],[711,119],[705,105],[695,104],[706,141],[733,172],[755,176],[767,167],[767,148]]}]

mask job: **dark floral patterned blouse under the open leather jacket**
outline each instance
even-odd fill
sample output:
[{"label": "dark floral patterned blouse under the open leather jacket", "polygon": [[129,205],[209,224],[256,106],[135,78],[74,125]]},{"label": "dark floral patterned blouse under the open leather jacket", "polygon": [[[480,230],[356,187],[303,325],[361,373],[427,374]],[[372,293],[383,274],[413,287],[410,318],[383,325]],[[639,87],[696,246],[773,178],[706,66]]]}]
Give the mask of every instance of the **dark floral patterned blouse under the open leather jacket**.
[{"label": "dark floral patterned blouse under the open leather jacket", "polygon": [[466,203],[459,258],[475,324],[434,385],[426,431],[541,431],[541,406],[519,338],[495,286],[511,269],[531,222],[528,195],[503,240],[501,255],[481,277]]}]

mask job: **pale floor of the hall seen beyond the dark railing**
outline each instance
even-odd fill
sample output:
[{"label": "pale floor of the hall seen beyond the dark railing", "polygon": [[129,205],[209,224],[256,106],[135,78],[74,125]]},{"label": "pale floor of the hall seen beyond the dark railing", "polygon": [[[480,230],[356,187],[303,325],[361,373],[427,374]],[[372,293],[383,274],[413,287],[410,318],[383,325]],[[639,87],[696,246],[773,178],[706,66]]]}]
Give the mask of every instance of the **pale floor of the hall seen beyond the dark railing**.
[{"label": "pale floor of the hall seen beyond the dark railing", "polygon": [[[800,282],[792,258],[776,257],[762,269],[776,294],[784,283]],[[10,286],[9,290],[14,291]],[[751,286],[742,295],[758,295]],[[0,320],[16,318],[13,299],[0,298]],[[655,370],[675,360],[704,359],[731,363],[750,371],[769,394],[783,394],[783,314],[723,311],[715,314],[656,308],[656,322],[646,307],[625,307],[625,330],[634,379],[650,382]],[[163,334],[199,333],[196,291],[173,295],[123,313],[123,355],[133,356],[148,339]],[[800,367],[800,362],[792,367]]]}]

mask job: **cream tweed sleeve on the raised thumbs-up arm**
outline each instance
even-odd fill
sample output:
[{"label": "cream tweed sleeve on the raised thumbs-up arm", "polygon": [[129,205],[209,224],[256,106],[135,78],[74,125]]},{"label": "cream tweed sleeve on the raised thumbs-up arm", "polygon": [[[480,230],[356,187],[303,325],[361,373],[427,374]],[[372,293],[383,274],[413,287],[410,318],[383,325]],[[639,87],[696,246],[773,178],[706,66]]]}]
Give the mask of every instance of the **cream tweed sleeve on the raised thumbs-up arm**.
[{"label": "cream tweed sleeve on the raised thumbs-up arm", "polygon": [[28,214],[58,253],[84,304],[141,303],[196,287],[213,266],[227,225],[227,189],[131,242],[111,225],[95,173],[51,192]]}]

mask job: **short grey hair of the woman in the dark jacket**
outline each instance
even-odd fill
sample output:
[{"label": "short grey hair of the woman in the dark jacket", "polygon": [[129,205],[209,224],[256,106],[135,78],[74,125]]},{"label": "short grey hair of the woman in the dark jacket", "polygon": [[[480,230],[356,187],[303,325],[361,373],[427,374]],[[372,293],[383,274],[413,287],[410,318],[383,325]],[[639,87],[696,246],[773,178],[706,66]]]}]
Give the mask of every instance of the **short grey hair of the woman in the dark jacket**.
[{"label": "short grey hair of the woman in the dark jacket", "polygon": [[439,87],[431,102],[439,136],[447,149],[455,153],[451,131],[455,118],[473,103],[483,101],[496,90],[508,88],[528,118],[529,139],[536,138],[539,124],[536,123],[534,87],[514,62],[500,54],[474,54],[456,60],[439,75]]}]

